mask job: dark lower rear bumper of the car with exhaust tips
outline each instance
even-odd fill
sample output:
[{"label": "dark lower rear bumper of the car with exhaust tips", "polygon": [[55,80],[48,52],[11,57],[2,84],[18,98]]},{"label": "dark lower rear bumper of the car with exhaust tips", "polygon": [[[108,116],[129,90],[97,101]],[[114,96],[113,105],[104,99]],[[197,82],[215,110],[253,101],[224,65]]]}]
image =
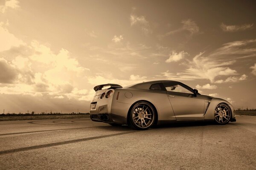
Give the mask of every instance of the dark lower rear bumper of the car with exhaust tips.
[{"label": "dark lower rear bumper of the car with exhaust tips", "polygon": [[127,125],[127,118],[113,113],[95,113],[90,114],[90,119],[95,122],[117,123]]}]

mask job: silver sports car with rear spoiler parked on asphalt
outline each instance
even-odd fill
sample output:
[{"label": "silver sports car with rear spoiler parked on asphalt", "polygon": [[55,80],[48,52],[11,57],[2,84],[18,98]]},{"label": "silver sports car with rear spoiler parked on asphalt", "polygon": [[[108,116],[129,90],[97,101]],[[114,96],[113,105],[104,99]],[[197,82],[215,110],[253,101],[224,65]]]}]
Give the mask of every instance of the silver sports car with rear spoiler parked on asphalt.
[{"label": "silver sports car with rear spoiler parked on asphalt", "polygon": [[94,87],[90,119],[113,126],[130,125],[145,130],[174,121],[208,121],[220,125],[236,122],[233,106],[224,99],[201,95],[198,90],[170,80],[142,82],[122,88]]}]

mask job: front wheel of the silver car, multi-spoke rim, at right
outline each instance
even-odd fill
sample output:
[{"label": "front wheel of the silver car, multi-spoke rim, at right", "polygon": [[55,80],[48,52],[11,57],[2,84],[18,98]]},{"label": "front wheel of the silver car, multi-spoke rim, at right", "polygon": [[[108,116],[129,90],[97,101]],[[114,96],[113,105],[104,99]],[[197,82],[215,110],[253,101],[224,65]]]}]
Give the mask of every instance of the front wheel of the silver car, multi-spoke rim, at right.
[{"label": "front wheel of the silver car, multi-spoke rim, at right", "polygon": [[215,108],[214,119],[220,125],[225,125],[231,120],[231,109],[228,105],[221,103]]}]

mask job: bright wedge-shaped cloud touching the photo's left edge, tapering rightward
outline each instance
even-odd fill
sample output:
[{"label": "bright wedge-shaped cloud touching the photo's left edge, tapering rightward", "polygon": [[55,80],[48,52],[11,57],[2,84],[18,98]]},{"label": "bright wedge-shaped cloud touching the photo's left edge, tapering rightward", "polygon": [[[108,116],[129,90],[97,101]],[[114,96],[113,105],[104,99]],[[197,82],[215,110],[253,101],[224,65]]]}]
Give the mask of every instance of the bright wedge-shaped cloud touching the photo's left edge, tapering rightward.
[{"label": "bright wedge-shaped cloud touching the photo's left edge, tapering rightward", "polygon": [[9,31],[3,27],[3,24],[0,25],[0,37],[1,40],[4,40],[4,43],[0,45],[0,51],[9,50],[13,46],[25,45],[22,40],[9,33]]}]

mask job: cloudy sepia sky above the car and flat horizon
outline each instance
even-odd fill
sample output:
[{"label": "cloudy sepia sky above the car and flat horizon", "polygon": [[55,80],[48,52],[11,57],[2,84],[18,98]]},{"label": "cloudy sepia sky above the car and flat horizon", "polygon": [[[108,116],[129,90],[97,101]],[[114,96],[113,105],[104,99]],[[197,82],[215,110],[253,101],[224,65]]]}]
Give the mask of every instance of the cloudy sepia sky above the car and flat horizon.
[{"label": "cloudy sepia sky above the car and flat horizon", "polygon": [[0,113],[86,113],[100,84],[177,80],[256,108],[253,0],[0,0]]}]

